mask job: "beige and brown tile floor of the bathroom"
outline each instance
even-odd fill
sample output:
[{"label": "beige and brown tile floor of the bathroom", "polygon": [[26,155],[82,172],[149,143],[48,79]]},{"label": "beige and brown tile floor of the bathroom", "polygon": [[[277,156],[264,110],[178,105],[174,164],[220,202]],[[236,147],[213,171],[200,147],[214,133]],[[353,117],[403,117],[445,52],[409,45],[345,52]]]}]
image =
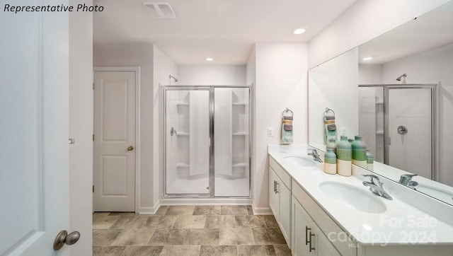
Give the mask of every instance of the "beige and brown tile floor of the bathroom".
[{"label": "beige and brown tile floor of the bathroom", "polygon": [[155,215],[93,214],[93,256],[290,256],[274,216],[251,206],[161,206]]}]

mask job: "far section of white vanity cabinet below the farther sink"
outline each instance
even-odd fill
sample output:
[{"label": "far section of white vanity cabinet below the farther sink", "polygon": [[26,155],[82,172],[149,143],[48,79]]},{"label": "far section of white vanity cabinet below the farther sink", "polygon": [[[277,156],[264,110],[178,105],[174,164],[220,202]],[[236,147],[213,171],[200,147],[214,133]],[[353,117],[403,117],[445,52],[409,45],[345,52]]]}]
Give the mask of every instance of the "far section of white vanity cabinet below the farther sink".
[{"label": "far section of white vanity cabinet below the farther sink", "polygon": [[285,240],[291,248],[291,177],[270,158],[269,204]]}]

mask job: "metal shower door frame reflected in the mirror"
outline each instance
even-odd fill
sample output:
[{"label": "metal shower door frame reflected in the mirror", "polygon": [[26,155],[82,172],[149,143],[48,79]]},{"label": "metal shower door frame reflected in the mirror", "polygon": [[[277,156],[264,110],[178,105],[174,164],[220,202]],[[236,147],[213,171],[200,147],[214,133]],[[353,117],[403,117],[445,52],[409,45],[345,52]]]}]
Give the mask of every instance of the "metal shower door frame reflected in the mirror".
[{"label": "metal shower door frame reflected in the mirror", "polygon": [[407,84],[366,84],[359,85],[358,87],[363,88],[377,88],[380,87],[384,91],[384,164],[389,165],[389,90],[391,89],[430,89],[431,90],[431,180],[438,180],[439,170],[437,169],[439,159],[437,156],[437,143],[439,137],[439,132],[437,131],[439,127],[437,111],[438,111],[438,102],[439,98],[437,95],[437,83],[407,83]]}]

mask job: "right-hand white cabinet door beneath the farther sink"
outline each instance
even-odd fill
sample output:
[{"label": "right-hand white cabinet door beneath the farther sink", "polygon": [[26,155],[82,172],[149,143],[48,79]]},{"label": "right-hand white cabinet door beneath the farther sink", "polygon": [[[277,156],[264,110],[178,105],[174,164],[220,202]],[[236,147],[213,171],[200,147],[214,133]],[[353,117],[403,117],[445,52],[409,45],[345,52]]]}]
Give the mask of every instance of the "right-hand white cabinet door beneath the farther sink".
[{"label": "right-hand white cabinet door beneath the farther sink", "polygon": [[289,190],[283,182],[277,186],[280,194],[280,223],[283,236],[291,248],[291,190]]}]

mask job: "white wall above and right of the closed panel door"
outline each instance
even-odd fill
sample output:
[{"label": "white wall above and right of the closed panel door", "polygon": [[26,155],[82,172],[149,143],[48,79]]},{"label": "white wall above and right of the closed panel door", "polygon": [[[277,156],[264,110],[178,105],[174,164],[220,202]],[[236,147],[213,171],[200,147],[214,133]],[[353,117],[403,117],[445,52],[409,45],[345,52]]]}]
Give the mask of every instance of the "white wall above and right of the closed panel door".
[{"label": "white wall above and right of the closed panel door", "polygon": [[[154,79],[153,45],[94,45],[94,66],[140,66],[140,194],[139,208],[154,206]],[[158,181],[159,182],[159,181]],[[137,195],[136,195],[137,196]],[[140,210],[142,211],[142,210]]]}]

